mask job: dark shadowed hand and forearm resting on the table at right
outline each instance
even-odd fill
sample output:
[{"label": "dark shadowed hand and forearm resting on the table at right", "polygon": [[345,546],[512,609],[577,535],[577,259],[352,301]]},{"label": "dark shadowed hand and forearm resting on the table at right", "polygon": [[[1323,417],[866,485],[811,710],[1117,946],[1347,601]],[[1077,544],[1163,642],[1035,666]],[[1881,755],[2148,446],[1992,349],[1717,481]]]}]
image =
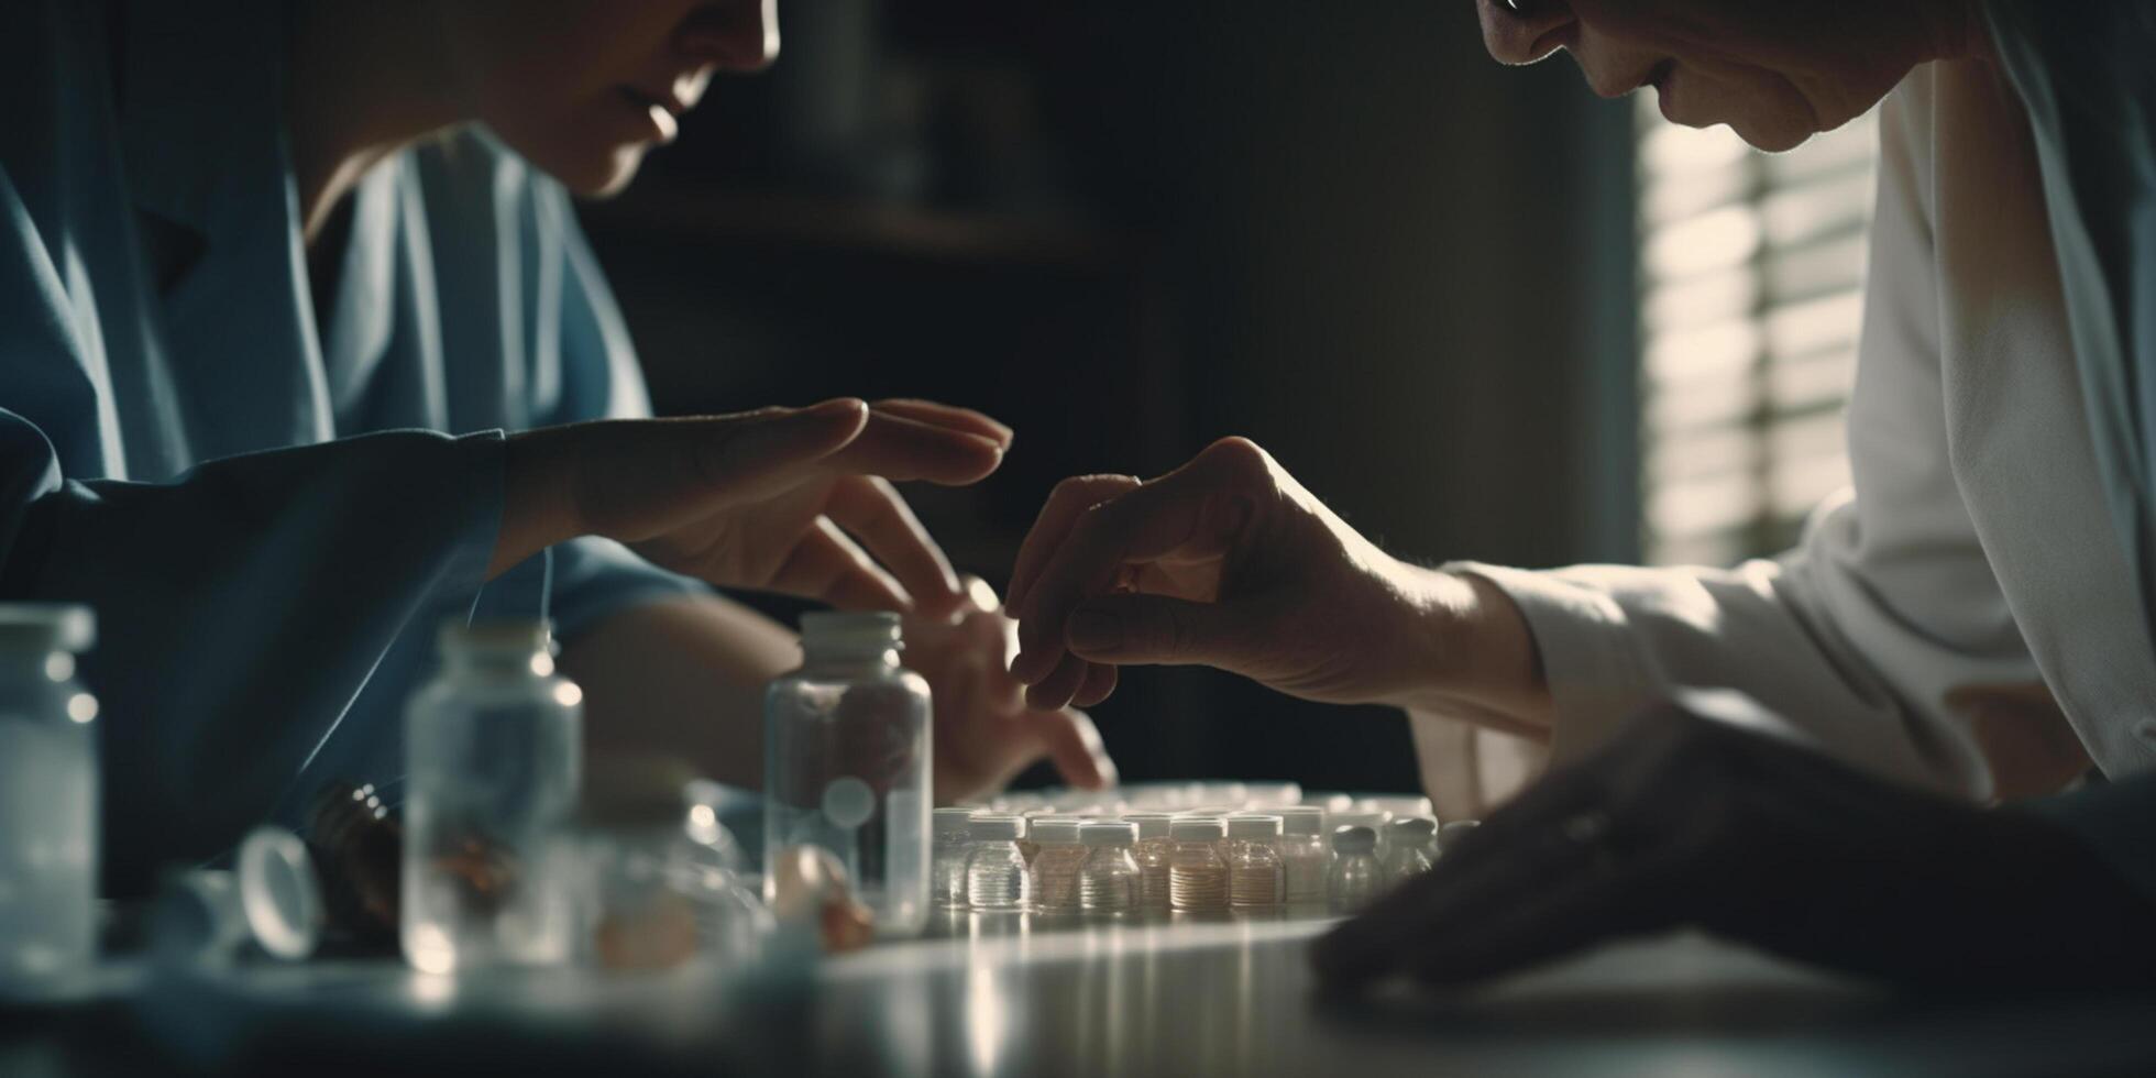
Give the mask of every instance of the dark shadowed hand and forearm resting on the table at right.
[{"label": "dark shadowed hand and forearm resting on the table at right", "polygon": [[1910,987],[2156,983],[2156,901],[2059,824],[1675,705],[1317,940],[1332,987],[1462,985],[1675,927]]}]

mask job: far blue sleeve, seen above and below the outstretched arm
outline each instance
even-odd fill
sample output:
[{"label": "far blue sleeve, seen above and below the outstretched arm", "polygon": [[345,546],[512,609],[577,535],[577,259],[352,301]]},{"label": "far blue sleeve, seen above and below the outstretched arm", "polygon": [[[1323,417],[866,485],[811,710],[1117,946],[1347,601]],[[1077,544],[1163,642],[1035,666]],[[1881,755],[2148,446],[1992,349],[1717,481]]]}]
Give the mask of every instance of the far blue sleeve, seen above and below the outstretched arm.
[{"label": "far blue sleeve, seen above and below the outstretched arm", "polygon": [[[576,224],[567,192],[548,179],[535,179],[530,205],[530,226],[545,241],[526,244],[524,250],[561,259],[558,274],[541,274],[561,282],[561,397],[539,423],[649,416],[651,399],[636,349]],[[563,640],[576,640],[632,606],[705,593],[709,589],[703,582],[660,569],[610,539],[586,537],[554,548],[550,614]]]}]

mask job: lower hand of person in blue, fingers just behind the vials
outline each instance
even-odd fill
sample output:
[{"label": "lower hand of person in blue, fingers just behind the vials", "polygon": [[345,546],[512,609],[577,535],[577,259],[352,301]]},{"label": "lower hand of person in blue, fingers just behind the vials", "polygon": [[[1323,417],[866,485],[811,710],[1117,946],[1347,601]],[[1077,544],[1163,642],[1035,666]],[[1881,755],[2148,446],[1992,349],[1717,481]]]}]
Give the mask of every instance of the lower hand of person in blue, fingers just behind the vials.
[{"label": "lower hand of person in blue, fingers just behind the vials", "polygon": [[1115,761],[1084,711],[1026,707],[1024,686],[1009,673],[1018,623],[1003,614],[994,589],[966,578],[964,591],[953,619],[906,623],[906,666],[936,694],[936,800],[1000,791],[1041,757],[1074,787],[1115,785]]}]

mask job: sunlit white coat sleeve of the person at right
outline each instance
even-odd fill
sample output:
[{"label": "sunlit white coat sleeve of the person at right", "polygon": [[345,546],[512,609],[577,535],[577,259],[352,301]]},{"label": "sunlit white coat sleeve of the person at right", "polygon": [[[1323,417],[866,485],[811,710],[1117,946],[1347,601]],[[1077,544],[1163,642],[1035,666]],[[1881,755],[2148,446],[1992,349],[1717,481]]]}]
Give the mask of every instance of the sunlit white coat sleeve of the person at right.
[{"label": "sunlit white coat sleeve of the person at right", "polygon": [[[1932,127],[1930,73],[1919,69],[1882,106],[1848,414],[1854,492],[1824,505],[1796,550],[1733,569],[1451,567],[1488,578],[1524,612],[1554,699],[1552,763],[1604,744],[1673,688],[1736,688],[1856,768],[1990,796],[1984,757],[1945,692],[2040,677],[1947,459]],[[1447,716],[1412,720],[1440,798],[1440,783],[1468,774],[1442,748],[1462,735]]]}]

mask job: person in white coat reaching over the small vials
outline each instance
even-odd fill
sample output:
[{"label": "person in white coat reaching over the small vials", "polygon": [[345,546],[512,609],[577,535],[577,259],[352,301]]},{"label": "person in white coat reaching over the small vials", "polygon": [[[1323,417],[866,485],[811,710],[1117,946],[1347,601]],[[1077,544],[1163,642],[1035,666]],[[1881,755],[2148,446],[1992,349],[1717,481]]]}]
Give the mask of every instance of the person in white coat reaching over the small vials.
[{"label": "person in white coat reaching over the small vials", "polygon": [[1324,940],[1341,983],[1684,923],[1921,985],[2156,979],[2156,15],[1477,4],[1501,63],[1766,151],[1884,99],[1854,489],[1774,561],[1520,571],[1406,565],[1246,440],[1078,476],[1011,580],[1031,701],[1203,662],[1397,703],[1468,815],[1546,755]]}]

